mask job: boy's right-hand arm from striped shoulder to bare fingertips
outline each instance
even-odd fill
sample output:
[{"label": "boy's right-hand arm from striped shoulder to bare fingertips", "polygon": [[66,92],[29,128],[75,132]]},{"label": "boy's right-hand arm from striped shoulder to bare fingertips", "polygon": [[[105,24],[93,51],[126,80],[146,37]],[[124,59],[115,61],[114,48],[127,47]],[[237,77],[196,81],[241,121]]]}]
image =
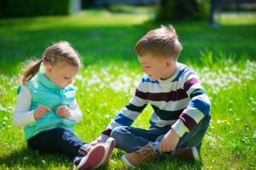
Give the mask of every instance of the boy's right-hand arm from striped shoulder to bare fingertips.
[{"label": "boy's right-hand arm from striped shoulder to bare fingertips", "polygon": [[183,81],[183,90],[191,101],[180,114],[179,119],[172,125],[172,129],[164,135],[159,144],[160,153],[174,151],[184,133],[191,131],[210,111],[209,97],[199,83],[196,74],[192,70],[187,70],[181,80]]}]

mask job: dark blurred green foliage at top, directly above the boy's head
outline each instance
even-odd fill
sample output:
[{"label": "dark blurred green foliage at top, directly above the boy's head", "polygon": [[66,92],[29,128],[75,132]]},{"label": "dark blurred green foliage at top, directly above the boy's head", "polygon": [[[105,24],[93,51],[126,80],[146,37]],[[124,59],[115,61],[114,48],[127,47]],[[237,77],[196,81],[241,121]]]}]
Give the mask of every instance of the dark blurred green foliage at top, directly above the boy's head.
[{"label": "dark blurred green foliage at top, directly above the boy's head", "polygon": [[162,1],[156,20],[207,20],[209,3],[200,0]]}]

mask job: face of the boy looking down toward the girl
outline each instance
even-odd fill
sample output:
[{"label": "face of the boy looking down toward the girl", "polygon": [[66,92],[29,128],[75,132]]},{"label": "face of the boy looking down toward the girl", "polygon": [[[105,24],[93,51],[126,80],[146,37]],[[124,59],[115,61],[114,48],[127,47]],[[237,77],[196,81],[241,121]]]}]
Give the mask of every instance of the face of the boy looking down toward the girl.
[{"label": "face of the boy looking down toward the girl", "polygon": [[171,59],[154,57],[151,54],[144,54],[138,57],[141,63],[141,70],[150,76],[151,80],[168,79],[171,76]]}]

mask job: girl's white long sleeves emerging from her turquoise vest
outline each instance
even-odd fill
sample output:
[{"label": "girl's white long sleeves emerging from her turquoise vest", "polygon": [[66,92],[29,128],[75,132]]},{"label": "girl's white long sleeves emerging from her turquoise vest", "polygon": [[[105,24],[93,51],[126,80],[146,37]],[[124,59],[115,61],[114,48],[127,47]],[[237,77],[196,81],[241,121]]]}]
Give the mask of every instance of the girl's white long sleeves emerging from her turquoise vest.
[{"label": "girl's white long sleeves emerging from her turquoise vest", "polygon": [[[24,127],[32,122],[36,122],[34,118],[34,111],[29,111],[31,106],[31,93],[27,86],[22,85],[21,91],[19,92],[16,99],[16,107],[13,113],[13,124],[16,127]],[[82,120],[82,113],[76,99],[69,105],[71,116],[69,120],[80,122]]]}]

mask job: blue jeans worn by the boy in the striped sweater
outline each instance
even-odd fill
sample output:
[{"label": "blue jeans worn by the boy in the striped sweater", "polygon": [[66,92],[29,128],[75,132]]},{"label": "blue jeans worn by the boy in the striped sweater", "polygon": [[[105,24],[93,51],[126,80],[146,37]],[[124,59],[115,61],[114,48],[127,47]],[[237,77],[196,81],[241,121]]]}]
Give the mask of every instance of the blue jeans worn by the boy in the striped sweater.
[{"label": "blue jeans worn by the boy in the striped sweater", "polygon": [[[175,150],[170,152],[170,154],[174,154],[178,148],[183,147],[195,146],[197,151],[199,151],[204,135],[209,127],[209,122],[210,114],[205,116],[189,133],[185,133],[177,143]],[[128,126],[119,126],[112,130],[110,136],[115,139],[116,148],[130,153],[147,145],[148,142],[154,142],[153,146],[159,145],[164,135],[170,129],[171,127],[146,130]]]}]

